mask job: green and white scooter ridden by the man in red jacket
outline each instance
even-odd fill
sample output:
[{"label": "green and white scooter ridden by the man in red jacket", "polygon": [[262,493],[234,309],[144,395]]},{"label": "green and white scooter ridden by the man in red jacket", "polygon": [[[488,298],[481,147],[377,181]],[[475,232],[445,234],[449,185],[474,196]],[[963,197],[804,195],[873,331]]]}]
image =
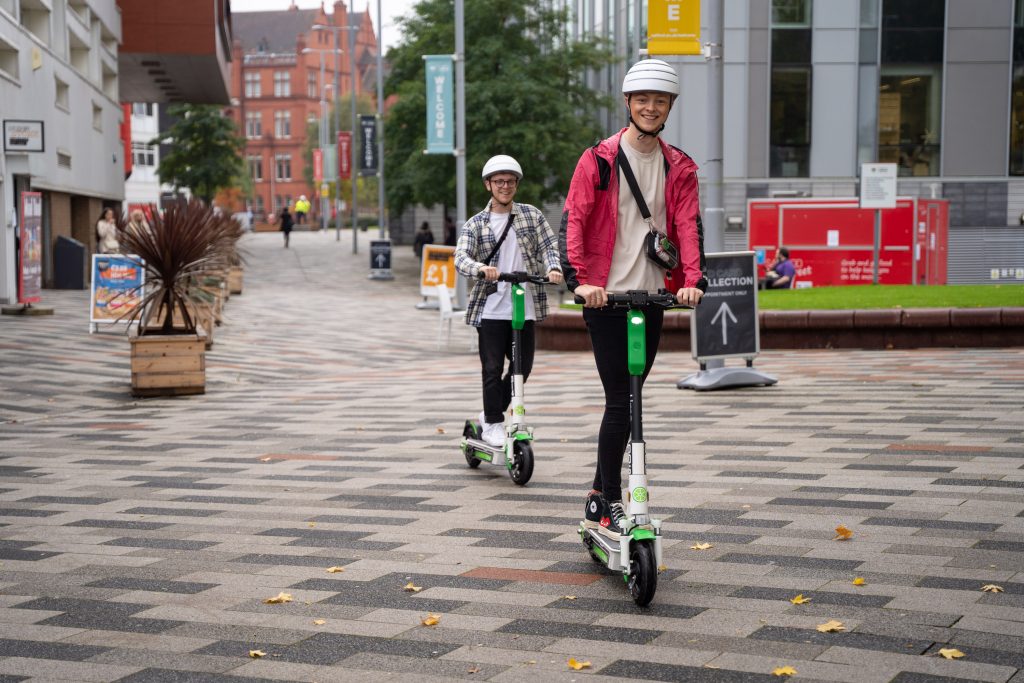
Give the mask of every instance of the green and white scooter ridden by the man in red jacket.
[{"label": "green and white scooter ridden by the man in red jacket", "polygon": [[[612,571],[621,571],[633,601],[643,607],[654,599],[657,574],[662,567],[662,520],[649,514],[650,493],[647,489],[647,453],[643,440],[643,404],[641,388],[647,365],[645,306],[684,308],[671,292],[650,294],[630,290],[624,294],[608,294],[609,308],[628,308],[626,313],[627,365],[630,373],[630,444],[627,453],[630,477],[627,516],[631,527],[614,541],[597,529],[580,522],[580,538],[591,558]],[[581,299],[577,299],[581,302]]]}]

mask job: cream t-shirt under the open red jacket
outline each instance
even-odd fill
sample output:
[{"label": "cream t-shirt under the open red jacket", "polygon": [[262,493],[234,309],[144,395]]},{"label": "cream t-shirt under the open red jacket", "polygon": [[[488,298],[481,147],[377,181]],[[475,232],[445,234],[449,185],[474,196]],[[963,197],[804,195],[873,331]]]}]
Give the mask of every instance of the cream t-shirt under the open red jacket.
[{"label": "cream t-shirt under the open red jacket", "polygon": [[[662,145],[644,154],[634,150],[626,141],[625,135],[620,144],[630,162],[644,201],[647,202],[647,210],[654,219],[654,225],[665,232],[665,157]],[[633,190],[630,189],[630,183],[626,181],[620,168],[618,224],[615,226],[615,249],[611,254],[611,267],[608,269],[608,283],[605,286],[607,291],[656,292],[665,287],[665,269],[658,268],[645,255],[644,239],[649,231],[633,197]]]}]

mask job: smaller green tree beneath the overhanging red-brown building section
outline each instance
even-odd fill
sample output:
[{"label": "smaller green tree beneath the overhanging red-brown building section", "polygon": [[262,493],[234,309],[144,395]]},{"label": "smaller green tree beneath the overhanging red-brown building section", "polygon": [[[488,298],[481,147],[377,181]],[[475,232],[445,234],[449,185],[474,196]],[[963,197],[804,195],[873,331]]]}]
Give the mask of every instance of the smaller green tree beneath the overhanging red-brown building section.
[{"label": "smaller green tree beneath the overhanging red-brown building section", "polygon": [[167,113],[175,119],[174,124],[150,142],[170,145],[157,168],[161,180],[188,187],[207,204],[218,189],[245,185],[245,140],[220,106],[174,104]]}]

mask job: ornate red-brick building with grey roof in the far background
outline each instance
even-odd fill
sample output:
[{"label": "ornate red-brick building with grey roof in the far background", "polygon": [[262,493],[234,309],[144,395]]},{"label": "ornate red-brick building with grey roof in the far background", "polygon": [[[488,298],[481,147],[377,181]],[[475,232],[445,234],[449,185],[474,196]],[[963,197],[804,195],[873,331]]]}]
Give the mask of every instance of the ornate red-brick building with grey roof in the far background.
[{"label": "ornate red-brick building with grey roof in the far background", "polygon": [[[298,9],[292,4],[286,10],[234,12],[231,16],[232,55],[238,68],[231,74],[230,116],[246,138],[245,157],[253,179],[252,209],[258,220],[292,204],[300,195],[312,202],[314,214],[318,210],[315,188],[304,179],[303,148],[307,123],[319,118],[322,90],[325,84],[333,86],[335,82],[335,60],[339,96],[353,90],[353,63],[356,96],[374,94],[367,86],[376,79],[378,49],[371,14],[349,12],[343,2],[335,2],[333,10],[328,14],[324,4],[318,9]],[[341,29],[314,30],[314,26]],[[348,50],[349,26],[356,27],[354,59]],[[341,50],[337,54],[332,51],[335,35]],[[328,99],[333,97],[329,90]]]}]

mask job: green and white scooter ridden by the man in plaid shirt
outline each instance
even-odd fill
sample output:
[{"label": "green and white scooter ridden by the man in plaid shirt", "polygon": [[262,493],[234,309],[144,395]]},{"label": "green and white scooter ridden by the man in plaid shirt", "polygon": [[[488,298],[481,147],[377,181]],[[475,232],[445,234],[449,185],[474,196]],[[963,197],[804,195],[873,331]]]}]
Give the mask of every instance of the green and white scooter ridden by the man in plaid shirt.
[{"label": "green and white scooter ridden by the man in plaid shirt", "polygon": [[522,328],[526,323],[526,290],[522,285],[547,285],[550,281],[522,271],[503,272],[498,280],[512,284],[512,417],[505,424],[505,444],[500,446],[483,440],[482,427],[476,420],[466,420],[461,447],[470,467],[475,469],[481,462],[504,467],[512,481],[522,486],[534,475],[534,428],[526,426],[523,403]]}]

